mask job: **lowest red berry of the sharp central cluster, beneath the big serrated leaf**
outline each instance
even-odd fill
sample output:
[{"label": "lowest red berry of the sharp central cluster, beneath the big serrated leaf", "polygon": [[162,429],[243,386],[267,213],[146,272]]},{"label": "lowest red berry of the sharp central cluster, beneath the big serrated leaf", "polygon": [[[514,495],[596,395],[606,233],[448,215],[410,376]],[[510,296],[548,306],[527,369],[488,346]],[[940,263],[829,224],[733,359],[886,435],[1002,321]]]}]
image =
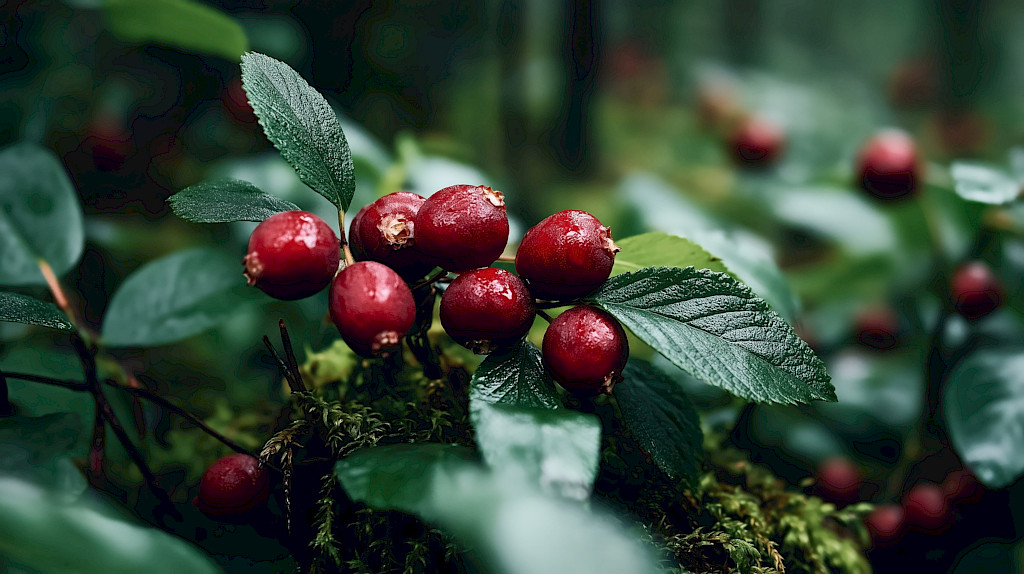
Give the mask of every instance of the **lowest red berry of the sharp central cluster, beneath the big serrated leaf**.
[{"label": "lowest red berry of the sharp central cluster, beneath the big serrated leaf", "polygon": [[614,317],[581,305],[551,321],[541,352],[555,381],[572,394],[588,396],[611,394],[623,380],[630,346]]}]

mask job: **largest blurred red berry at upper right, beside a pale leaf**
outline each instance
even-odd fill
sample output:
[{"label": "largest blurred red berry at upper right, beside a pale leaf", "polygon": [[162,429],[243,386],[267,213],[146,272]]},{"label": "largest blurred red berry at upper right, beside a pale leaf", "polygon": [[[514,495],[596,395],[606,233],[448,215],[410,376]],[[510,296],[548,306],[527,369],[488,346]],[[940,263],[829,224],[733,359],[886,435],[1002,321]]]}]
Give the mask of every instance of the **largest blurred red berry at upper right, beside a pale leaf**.
[{"label": "largest blurred red berry at upper right, beside a pale leaf", "polygon": [[880,200],[900,200],[913,193],[920,172],[918,146],[901,131],[881,132],[860,149],[857,178],[865,191]]}]

